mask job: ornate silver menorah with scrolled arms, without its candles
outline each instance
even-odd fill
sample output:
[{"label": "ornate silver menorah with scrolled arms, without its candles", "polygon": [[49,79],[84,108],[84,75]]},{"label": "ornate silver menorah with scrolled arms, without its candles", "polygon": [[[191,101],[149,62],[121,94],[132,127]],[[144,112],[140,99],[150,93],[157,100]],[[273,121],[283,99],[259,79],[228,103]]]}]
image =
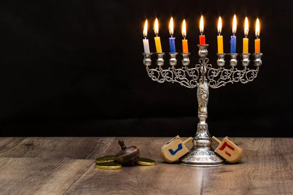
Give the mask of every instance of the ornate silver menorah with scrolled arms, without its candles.
[{"label": "ornate silver menorah with scrolled arms, without its candles", "polygon": [[156,64],[158,67],[155,69],[149,68],[151,65],[152,53],[144,55],[144,64],[148,76],[159,83],[178,82],[182,86],[188,88],[197,87],[197,100],[198,100],[198,117],[199,123],[197,124],[197,131],[193,138],[192,149],[179,159],[179,164],[187,166],[220,166],[226,164],[224,158],[219,156],[211,148],[211,138],[208,130],[208,101],[209,101],[209,87],[219,88],[225,86],[226,83],[242,82],[247,83],[256,78],[259,67],[262,64],[262,53],[254,53],[254,66],[256,69],[249,69],[250,55],[241,54],[243,70],[235,68],[237,66],[238,54],[228,54],[230,56],[230,69],[224,68],[226,54],[217,54],[218,68],[212,68],[209,64],[208,46],[197,45],[199,47],[198,55],[200,57],[199,64],[194,68],[189,68],[190,53],[182,53],[182,68],[175,68],[177,65],[176,56],[178,53],[168,53],[169,65],[168,69],[163,69],[165,53],[156,53]]}]

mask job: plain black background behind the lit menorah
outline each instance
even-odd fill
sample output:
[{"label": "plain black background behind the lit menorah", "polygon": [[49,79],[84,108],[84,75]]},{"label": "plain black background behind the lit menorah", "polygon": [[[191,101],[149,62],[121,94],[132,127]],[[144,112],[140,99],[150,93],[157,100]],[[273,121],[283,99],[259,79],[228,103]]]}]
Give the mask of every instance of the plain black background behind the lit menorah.
[{"label": "plain black background behind the lit menorah", "polygon": [[158,17],[163,52],[168,52],[173,16],[176,48],[182,52],[181,23],[186,19],[190,60],[197,63],[202,14],[214,66],[219,16],[224,52],[230,50],[236,14],[236,52],[242,52],[248,16],[250,52],[258,17],[264,53],[253,82],[210,88],[210,134],[293,137],[288,131],[293,12],[286,1],[268,0],[1,1],[0,136],[193,136],[196,89],[148,78],[142,39],[147,18],[155,52],[152,28]]}]

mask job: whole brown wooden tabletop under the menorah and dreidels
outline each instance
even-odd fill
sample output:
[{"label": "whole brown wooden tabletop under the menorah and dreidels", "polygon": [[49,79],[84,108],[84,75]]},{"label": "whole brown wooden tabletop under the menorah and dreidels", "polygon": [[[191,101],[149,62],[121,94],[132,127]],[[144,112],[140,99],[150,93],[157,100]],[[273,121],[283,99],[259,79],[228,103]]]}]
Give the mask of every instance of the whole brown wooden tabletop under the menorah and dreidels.
[{"label": "whole brown wooden tabletop under the menorah and dreidels", "polygon": [[[120,151],[120,138],[157,164],[96,169],[95,158]],[[160,148],[169,139],[2,137],[0,194],[293,194],[293,138],[232,138],[244,149],[241,162],[206,168],[164,163]]]}]

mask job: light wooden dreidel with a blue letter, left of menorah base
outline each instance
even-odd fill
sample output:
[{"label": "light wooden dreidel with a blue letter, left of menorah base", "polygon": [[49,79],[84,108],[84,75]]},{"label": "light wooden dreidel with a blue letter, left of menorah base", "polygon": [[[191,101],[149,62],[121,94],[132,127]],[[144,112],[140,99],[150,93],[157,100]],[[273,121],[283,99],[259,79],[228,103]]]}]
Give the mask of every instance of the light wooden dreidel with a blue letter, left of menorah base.
[{"label": "light wooden dreidel with a blue letter, left of menorah base", "polygon": [[189,137],[187,140],[182,141],[179,136],[174,137],[161,147],[161,156],[166,162],[174,162],[181,156],[189,152],[185,144],[192,140]]}]

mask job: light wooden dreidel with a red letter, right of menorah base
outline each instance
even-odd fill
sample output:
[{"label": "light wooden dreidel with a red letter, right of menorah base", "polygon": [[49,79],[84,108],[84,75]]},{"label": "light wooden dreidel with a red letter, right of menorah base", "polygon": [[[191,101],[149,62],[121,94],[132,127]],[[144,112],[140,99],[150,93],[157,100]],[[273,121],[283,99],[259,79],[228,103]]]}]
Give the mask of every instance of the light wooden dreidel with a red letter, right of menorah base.
[{"label": "light wooden dreidel with a red letter, right of menorah base", "polygon": [[230,163],[238,162],[242,159],[243,150],[229,137],[225,137],[223,141],[220,141],[216,137],[211,137],[215,140],[219,146],[215,149],[215,152],[225,158]]}]

